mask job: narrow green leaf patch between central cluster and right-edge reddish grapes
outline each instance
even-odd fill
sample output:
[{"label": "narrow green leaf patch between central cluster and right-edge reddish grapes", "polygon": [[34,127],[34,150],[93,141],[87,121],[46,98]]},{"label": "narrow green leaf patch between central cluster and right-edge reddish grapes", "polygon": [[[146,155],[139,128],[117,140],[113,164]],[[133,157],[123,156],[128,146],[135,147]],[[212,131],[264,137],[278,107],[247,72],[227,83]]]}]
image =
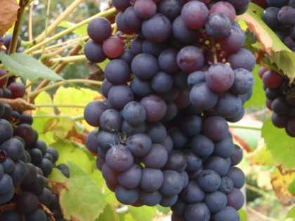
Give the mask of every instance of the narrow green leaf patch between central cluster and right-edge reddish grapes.
[{"label": "narrow green leaf patch between central cluster and right-edge reddish grapes", "polygon": [[253,76],[255,79],[254,88],[253,88],[253,95],[245,104],[245,108],[249,107],[265,107],[265,92],[263,91],[263,82],[258,76],[259,67],[256,65]]}]

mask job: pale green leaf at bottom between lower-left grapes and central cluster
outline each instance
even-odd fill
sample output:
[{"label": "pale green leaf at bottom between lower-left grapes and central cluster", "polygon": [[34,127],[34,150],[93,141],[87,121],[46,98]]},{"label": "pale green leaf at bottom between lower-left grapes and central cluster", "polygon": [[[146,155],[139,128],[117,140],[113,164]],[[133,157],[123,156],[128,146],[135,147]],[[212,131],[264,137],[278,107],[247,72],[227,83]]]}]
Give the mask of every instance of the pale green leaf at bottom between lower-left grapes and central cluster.
[{"label": "pale green leaf at bottom between lower-left grapes and central cluster", "polygon": [[68,162],[71,177],[60,193],[60,206],[67,220],[94,221],[106,206],[103,194],[91,177],[76,164]]}]

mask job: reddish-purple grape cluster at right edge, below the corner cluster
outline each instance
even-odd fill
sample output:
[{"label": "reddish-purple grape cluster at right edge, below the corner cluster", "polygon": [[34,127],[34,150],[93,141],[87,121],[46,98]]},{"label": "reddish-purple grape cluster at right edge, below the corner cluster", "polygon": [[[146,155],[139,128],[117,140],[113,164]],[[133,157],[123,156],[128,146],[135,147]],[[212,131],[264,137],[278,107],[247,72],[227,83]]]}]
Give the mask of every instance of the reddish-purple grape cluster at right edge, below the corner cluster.
[{"label": "reddish-purple grape cluster at right edge, below the corner cluster", "polygon": [[289,84],[289,79],[265,67],[261,67],[259,76],[263,80],[266,106],[273,111],[273,125],[284,128],[295,138],[295,87]]}]

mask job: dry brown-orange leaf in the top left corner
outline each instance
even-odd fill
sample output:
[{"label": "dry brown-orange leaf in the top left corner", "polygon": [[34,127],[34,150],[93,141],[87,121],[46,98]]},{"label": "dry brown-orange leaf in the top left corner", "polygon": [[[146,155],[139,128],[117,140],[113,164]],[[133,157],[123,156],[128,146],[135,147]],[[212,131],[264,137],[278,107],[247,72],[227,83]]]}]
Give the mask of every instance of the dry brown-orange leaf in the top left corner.
[{"label": "dry brown-orange leaf in the top left corner", "polygon": [[13,26],[18,16],[18,2],[15,0],[2,0],[0,6],[0,37]]}]

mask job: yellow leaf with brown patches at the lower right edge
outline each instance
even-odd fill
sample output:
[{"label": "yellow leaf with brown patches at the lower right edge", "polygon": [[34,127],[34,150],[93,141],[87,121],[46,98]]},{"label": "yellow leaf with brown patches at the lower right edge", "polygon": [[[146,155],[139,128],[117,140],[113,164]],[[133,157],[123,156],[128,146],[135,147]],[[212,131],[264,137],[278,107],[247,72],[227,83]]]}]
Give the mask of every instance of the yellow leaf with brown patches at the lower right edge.
[{"label": "yellow leaf with brown patches at the lower right edge", "polygon": [[295,179],[295,170],[275,169],[270,175],[273,189],[279,201],[284,205],[295,203],[295,196],[288,190],[289,185]]}]

